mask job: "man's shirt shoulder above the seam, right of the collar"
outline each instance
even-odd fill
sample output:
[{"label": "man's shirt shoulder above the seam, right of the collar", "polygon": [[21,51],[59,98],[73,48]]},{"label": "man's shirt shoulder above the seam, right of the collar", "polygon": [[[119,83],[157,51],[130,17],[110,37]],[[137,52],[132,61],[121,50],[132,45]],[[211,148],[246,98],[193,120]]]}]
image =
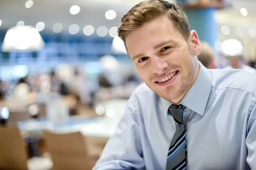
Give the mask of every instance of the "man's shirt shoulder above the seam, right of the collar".
[{"label": "man's shirt shoulder above the seam, right of the collar", "polygon": [[215,89],[240,89],[256,95],[256,73],[241,69],[210,69]]}]

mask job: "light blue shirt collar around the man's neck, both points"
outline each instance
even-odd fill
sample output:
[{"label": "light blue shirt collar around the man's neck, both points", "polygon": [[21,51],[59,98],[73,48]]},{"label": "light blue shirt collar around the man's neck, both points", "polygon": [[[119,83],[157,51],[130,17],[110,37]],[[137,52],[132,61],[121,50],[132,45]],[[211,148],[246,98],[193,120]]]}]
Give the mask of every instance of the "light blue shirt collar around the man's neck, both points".
[{"label": "light blue shirt collar around the man's neck, both points", "polygon": [[[203,116],[211,92],[212,74],[201,62],[199,64],[200,70],[198,76],[182,101],[180,101],[180,104]],[[172,104],[171,101],[160,98],[160,105],[162,106],[163,112],[166,113],[166,118],[168,109]]]}]

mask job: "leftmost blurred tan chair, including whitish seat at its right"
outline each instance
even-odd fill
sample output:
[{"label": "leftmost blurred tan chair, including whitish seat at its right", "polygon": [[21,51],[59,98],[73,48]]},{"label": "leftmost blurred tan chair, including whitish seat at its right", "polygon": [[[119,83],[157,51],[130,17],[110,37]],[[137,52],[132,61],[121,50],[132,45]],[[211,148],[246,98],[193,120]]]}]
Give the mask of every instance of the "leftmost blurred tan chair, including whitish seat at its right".
[{"label": "leftmost blurred tan chair, including whitish seat at its right", "polygon": [[28,159],[26,145],[17,126],[0,127],[0,169],[1,170],[49,170],[49,158]]}]

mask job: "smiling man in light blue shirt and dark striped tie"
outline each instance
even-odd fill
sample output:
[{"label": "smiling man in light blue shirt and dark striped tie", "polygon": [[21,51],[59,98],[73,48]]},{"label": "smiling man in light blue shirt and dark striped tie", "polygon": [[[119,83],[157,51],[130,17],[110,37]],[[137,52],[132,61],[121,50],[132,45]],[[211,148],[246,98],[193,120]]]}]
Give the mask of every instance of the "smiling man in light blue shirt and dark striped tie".
[{"label": "smiling man in light blue shirt and dark striped tie", "polygon": [[93,170],[256,170],[256,75],[206,69],[184,12],[146,0],[118,30],[145,82]]}]

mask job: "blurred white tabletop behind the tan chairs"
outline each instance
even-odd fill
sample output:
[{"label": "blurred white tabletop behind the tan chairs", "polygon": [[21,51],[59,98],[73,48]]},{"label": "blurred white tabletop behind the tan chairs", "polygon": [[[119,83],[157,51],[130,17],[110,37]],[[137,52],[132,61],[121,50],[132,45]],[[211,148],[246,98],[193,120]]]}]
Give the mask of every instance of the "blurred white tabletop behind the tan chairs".
[{"label": "blurred white tabletop behind the tan chairs", "polygon": [[112,118],[70,116],[67,121],[52,123],[47,118],[19,121],[18,127],[23,135],[41,136],[44,130],[55,133],[72,133],[80,131],[84,136],[109,138],[115,131],[118,121]]}]

